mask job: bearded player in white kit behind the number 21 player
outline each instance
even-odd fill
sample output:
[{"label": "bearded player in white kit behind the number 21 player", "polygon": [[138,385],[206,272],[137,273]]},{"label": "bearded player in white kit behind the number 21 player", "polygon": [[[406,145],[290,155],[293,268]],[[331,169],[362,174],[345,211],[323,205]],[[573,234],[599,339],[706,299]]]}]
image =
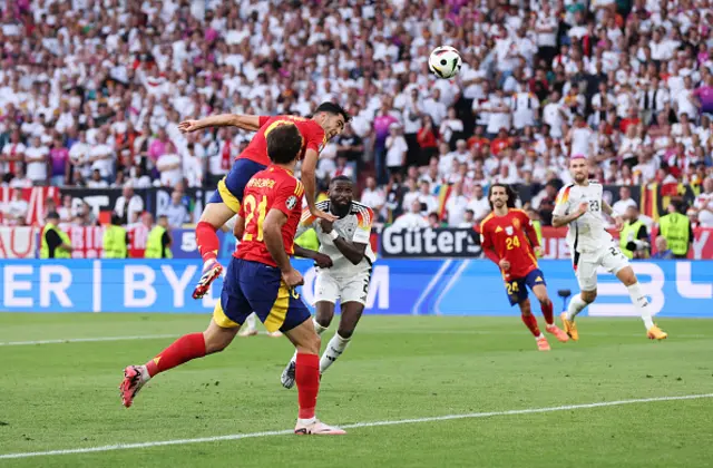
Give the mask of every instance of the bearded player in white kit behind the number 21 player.
[{"label": "bearded player in white kit behind the number 21 player", "polygon": [[[314,329],[322,334],[334,318],[334,304],[340,300],[339,329],[320,360],[320,374],[342,355],[367,303],[371,265],[377,260],[369,237],[374,214],[371,208],[356,203],[354,185],[349,177],[338,176],[330,183],[329,199],[316,204],[319,209],[332,213],[338,220],[332,223],[316,220],[309,209],[302,214],[297,236],[314,228],[320,240],[320,251],[313,252],[295,245],[297,256],[312,259],[316,263]],[[281,382],[291,389],[295,382],[296,354],[282,372]]]}]

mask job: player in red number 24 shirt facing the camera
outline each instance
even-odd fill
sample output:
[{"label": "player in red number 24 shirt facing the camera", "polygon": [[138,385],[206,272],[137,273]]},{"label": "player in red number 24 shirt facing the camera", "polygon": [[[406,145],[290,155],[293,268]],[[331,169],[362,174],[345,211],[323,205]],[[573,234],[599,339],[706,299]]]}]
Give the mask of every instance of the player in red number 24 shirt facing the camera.
[{"label": "player in red number 24 shirt facing the camera", "polygon": [[537,267],[535,257],[536,251],[540,248],[537,232],[527,213],[515,208],[516,198],[515,191],[508,185],[490,186],[488,202],[492,213],[480,223],[480,244],[485,255],[500,267],[510,305],[520,306],[522,322],[535,335],[537,348],[549,351],[549,343],[533,315],[530,300],[527,298],[528,286],[539,301],[547,324],[545,330],[563,343],[569,338],[555,324],[545,275]]}]

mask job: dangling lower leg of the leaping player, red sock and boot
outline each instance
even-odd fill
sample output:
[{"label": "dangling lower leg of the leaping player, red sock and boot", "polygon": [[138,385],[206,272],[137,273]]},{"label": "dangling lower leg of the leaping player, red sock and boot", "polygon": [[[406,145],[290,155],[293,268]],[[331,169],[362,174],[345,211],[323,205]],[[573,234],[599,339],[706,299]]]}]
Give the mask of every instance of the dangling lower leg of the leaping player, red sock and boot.
[{"label": "dangling lower leg of the leaping player, red sock and boot", "polygon": [[196,225],[196,242],[203,259],[203,274],[193,291],[193,299],[201,299],[223,272],[217,252],[221,246],[217,231],[235,215],[225,203],[208,203]]}]

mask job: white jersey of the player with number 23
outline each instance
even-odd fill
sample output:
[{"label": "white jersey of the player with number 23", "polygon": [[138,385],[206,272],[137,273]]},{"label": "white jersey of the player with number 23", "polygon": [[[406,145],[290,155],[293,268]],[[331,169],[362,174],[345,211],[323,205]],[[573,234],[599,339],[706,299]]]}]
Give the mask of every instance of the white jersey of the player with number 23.
[{"label": "white jersey of the player with number 23", "polygon": [[587,212],[569,223],[567,244],[570,252],[594,253],[612,245],[612,235],[605,228],[602,216],[602,192],[596,182],[587,185],[568,184],[559,189],[553,216],[565,216],[577,211],[582,202],[588,204]]}]

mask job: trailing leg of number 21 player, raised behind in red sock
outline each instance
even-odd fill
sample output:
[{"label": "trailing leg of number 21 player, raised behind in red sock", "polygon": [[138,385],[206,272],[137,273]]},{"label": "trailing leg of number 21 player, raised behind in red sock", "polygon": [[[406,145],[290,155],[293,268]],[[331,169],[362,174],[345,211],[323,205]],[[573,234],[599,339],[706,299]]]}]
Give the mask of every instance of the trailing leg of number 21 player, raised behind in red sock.
[{"label": "trailing leg of number 21 player, raised behind in red sock", "polygon": [[129,365],[124,369],[124,381],[119,386],[121,403],[128,408],[138,391],[153,377],[193,359],[223,351],[233,342],[240,326],[222,328],[213,319],[203,333],[191,333],[180,337],[168,348],[159,352],[144,365]]}]

